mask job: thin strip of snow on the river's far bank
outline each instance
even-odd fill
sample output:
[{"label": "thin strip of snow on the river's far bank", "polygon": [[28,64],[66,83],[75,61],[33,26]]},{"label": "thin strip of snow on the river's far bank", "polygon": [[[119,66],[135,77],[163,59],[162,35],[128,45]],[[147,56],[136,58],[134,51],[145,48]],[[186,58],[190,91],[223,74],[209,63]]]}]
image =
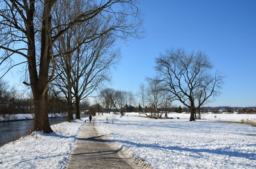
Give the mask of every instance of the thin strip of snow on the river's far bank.
[{"label": "thin strip of snow on the river's far bank", "polygon": [[[65,117],[67,114],[49,114],[49,117]],[[1,121],[22,121],[34,119],[34,114],[5,114],[0,115],[0,122]]]}]

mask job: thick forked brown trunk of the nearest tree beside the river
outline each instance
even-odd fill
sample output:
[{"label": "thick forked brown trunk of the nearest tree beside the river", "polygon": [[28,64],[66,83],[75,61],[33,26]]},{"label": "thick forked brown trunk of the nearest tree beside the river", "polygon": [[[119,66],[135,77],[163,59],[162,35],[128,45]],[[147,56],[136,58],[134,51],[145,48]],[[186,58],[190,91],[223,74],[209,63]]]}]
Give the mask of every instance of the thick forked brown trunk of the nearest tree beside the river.
[{"label": "thick forked brown trunk of the nearest tree beside the river", "polygon": [[[42,14],[42,32],[41,32],[41,54],[39,75],[36,70],[36,54],[35,54],[35,36],[33,31],[33,22],[29,23],[29,62],[28,70],[33,92],[35,106],[35,123],[36,131],[51,133],[52,129],[48,118],[47,91],[49,85],[49,63],[52,55],[51,40],[51,8],[55,1],[45,1],[44,11]],[[32,12],[32,11],[31,11]],[[32,13],[30,13],[31,16]],[[30,18],[33,20],[33,18]],[[32,38],[32,39],[31,39]]]}]

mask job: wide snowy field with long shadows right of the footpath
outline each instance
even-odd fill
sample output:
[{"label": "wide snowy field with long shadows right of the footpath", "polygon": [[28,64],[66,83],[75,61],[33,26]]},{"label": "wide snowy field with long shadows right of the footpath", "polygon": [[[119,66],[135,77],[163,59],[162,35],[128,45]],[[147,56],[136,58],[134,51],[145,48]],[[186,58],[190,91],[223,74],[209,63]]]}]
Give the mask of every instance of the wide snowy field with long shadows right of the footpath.
[{"label": "wide snowy field with long shadows right of the footpath", "polygon": [[256,128],[248,124],[114,114],[97,121],[154,168],[256,168]]}]

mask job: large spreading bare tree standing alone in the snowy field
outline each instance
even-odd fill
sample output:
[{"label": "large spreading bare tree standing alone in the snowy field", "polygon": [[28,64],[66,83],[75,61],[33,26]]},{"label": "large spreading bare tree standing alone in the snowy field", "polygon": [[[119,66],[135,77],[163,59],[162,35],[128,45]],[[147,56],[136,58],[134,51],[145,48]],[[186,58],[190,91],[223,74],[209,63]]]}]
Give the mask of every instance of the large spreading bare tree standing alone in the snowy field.
[{"label": "large spreading bare tree standing alone in the snowy field", "polygon": [[189,108],[190,121],[195,121],[196,110],[216,96],[223,83],[223,76],[211,75],[211,62],[202,52],[187,53],[183,48],[166,50],[156,58],[156,64],[164,89]]}]

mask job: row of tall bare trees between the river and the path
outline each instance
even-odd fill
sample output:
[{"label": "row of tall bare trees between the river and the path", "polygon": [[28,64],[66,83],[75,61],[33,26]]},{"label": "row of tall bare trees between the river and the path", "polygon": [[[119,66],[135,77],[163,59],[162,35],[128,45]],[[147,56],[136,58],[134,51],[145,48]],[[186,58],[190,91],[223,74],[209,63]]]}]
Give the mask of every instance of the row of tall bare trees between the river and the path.
[{"label": "row of tall bare trees between the river and the path", "polygon": [[[65,96],[63,98],[68,103],[68,120],[72,119],[73,98],[79,104],[83,97],[97,87],[93,85],[92,81],[95,79],[92,78],[99,73],[90,68],[104,61],[101,59],[97,62],[93,59],[82,64],[86,60],[81,59],[82,55],[83,58],[87,58],[87,54],[97,57],[104,52],[106,53],[103,55],[109,55],[106,45],[113,41],[113,37],[138,37],[141,24],[138,15],[134,0],[0,1],[0,64],[7,66],[6,72],[13,66],[26,65],[28,81],[23,83],[31,87],[33,95],[34,130],[52,132],[48,119],[49,84],[52,80],[59,80],[52,83],[54,87],[51,89],[56,88],[56,96]],[[99,44],[99,47],[93,46]],[[116,55],[116,51],[112,54]],[[13,62],[17,55],[22,56],[21,62]],[[88,64],[91,66],[88,67]],[[86,73],[83,73],[83,66],[88,68]],[[105,70],[105,67],[102,69]],[[73,77],[71,72],[74,73]],[[89,74],[90,78],[84,77]],[[61,84],[61,75],[64,85]],[[81,77],[86,80],[77,80]],[[84,85],[86,89],[83,89]]]}]

